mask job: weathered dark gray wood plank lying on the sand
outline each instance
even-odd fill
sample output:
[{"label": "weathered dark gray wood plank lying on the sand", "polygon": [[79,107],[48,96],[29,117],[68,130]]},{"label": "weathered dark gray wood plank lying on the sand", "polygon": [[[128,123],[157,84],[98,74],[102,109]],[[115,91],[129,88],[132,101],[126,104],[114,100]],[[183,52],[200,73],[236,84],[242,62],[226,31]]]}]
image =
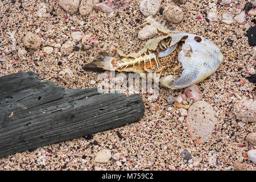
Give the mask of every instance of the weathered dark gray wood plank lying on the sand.
[{"label": "weathered dark gray wood plank lying on the sand", "polygon": [[[138,94],[67,89],[34,72],[0,77],[0,158],[139,121]],[[11,117],[11,113],[13,116]]]}]

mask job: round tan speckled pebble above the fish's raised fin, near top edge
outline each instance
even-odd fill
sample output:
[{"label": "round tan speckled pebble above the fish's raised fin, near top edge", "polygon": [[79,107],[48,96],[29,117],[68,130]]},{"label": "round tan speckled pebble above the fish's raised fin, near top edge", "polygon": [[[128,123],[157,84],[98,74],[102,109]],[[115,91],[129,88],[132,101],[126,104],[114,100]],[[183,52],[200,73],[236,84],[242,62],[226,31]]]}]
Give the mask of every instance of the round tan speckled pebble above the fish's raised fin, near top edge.
[{"label": "round tan speckled pebble above the fish's raised fin, near top edge", "polygon": [[177,6],[165,7],[163,15],[171,23],[180,23],[184,17],[183,11]]}]

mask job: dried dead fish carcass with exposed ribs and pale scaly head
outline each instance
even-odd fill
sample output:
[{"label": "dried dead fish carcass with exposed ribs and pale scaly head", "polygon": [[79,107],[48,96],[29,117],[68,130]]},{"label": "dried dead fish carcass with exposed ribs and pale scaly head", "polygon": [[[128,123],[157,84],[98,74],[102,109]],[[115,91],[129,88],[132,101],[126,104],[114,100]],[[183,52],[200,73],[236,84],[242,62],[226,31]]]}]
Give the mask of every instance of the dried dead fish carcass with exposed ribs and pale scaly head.
[{"label": "dried dead fish carcass with exposed ribs and pale scaly head", "polygon": [[[147,73],[153,73],[152,68],[156,66],[154,73],[159,73],[159,75],[152,77],[153,81],[159,80],[159,84],[167,88],[181,89],[203,81],[212,75],[221,64],[223,55],[220,48],[203,36],[168,30],[151,16],[146,18],[144,24],[147,23],[166,35],[148,40],[139,52],[126,55],[117,49],[117,56],[105,56],[101,60],[86,64],[84,68],[134,72],[141,77],[147,77]],[[180,67],[183,68],[181,76],[177,79],[173,75],[161,77],[162,71],[166,67],[160,65],[159,59],[174,52],[180,42],[183,42],[182,49],[178,54]]]}]

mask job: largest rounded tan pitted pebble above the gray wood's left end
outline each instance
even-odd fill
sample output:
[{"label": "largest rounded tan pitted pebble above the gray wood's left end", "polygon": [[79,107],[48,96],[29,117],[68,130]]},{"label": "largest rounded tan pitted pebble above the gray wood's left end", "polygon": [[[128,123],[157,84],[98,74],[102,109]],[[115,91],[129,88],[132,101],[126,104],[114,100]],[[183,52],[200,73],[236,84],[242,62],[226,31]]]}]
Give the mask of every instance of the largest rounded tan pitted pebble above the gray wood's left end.
[{"label": "largest rounded tan pitted pebble above the gray wood's left end", "polygon": [[28,32],[23,39],[23,43],[27,48],[36,50],[41,46],[42,40],[38,35]]}]

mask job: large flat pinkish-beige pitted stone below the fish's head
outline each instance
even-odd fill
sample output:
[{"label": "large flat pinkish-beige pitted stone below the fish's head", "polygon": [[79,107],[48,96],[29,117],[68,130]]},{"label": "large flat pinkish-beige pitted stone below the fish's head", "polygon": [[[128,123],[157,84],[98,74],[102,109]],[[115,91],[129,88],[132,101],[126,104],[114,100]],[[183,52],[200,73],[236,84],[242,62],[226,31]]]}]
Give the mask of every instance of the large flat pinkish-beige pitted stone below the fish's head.
[{"label": "large flat pinkish-beige pitted stone below the fish's head", "polygon": [[216,111],[205,101],[197,101],[188,109],[188,125],[195,137],[198,135],[204,142],[210,137],[217,124]]}]

